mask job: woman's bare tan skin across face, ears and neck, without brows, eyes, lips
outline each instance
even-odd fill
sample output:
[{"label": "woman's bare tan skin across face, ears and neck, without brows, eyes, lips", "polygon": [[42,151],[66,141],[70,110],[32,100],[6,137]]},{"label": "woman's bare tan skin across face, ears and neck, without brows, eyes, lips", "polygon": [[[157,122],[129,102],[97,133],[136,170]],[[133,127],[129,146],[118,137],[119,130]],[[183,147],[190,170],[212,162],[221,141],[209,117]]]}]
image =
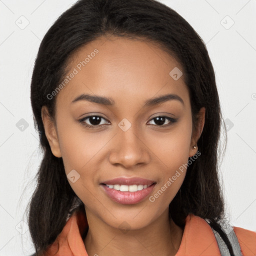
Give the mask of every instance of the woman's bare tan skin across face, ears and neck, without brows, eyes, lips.
[{"label": "woman's bare tan skin across face, ears and neck, without brows, eyes, lips", "polygon": [[[203,125],[199,112],[197,129],[192,132],[191,106],[183,76],[174,80],[169,72],[182,66],[152,43],[124,37],[100,37],[72,56],[70,73],[93,52],[98,53],[56,95],[56,115],[52,121],[42,107],[45,134],[51,151],[62,157],[65,172],[75,169],[80,178],[70,186],[85,205],[89,230],[84,243],[88,255],[175,255],[183,230],[168,219],[168,205],[180,188],[185,170],[158,197],[147,196],[136,204],[119,204],[100,187],[103,180],[115,177],[142,177],[156,185],[151,194],[172,177],[193,156]],[[111,97],[114,105],[71,101],[82,93]],[[184,102],[168,100],[143,107],[144,101],[175,93]],[[100,115],[96,128],[85,127],[78,119]],[[177,118],[171,123],[154,117]],[[123,131],[118,123],[126,118],[131,127]],[[89,118],[83,123],[91,124]],[[103,124],[106,124],[103,126]],[[108,124],[108,125],[107,125]],[[157,125],[158,124],[158,125]],[[92,125],[92,124],[91,124]],[[120,224],[126,221],[126,233]],[[170,242],[171,241],[171,242]]]}]

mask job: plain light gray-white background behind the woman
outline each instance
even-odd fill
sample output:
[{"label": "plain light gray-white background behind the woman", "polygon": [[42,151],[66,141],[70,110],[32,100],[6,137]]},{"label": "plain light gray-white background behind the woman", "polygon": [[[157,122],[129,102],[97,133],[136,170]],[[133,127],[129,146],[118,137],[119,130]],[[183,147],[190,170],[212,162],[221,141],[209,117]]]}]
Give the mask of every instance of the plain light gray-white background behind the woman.
[{"label": "plain light gray-white background behind the woman", "polygon": [[[42,155],[33,127],[30,79],[41,39],[74,2],[0,0],[0,256],[33,252],[23,213]],[[255,231],[256,0],[161,2],[206,43],[229,129],[220,166],[227,215],[232,225]],[[28,125],[23,130],[21,118]]]}]

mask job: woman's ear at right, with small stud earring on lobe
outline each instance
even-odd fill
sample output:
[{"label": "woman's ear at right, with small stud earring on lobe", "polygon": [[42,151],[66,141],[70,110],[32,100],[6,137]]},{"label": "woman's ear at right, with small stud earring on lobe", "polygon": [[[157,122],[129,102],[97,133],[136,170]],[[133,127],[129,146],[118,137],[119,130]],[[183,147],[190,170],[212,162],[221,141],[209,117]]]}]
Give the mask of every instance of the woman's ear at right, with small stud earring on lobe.
[{"label": "woman's ear at right, with small stud earring on lobe", "polygon": [[[204,126],[204,118],[205,118],[205,107],[203,106],[200,108],[200,110],[197,114],[197,123],[196,123],[197,126],[196,126],[195,130],[193,130],[193,132],[192,132],[191,143],[190,143],[190,148],[189,148],[189,157],[193,156],[198,149],[196,146],[196,143],[202,133],[202,129]],[[196,146],[195,149],[193,148],[194,145]],[[194,150],[194,151],[192,151],[192,150]]]}]

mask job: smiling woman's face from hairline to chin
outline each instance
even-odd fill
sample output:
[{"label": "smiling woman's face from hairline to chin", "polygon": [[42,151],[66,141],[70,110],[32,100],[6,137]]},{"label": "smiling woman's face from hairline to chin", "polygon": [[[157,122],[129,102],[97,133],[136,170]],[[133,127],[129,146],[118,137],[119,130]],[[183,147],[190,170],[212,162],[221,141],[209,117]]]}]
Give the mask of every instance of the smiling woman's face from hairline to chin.
[{"label": "smiling woman's face from hairline to chin", "polygon": [[149,42],[112,36],[82,47],[69,67],[51,94],[56,126],[42,111],[52,153],[62,157],[86,214],[116,228],[123,220],[146,226],[168,211],[196,152],[182,66]]}]

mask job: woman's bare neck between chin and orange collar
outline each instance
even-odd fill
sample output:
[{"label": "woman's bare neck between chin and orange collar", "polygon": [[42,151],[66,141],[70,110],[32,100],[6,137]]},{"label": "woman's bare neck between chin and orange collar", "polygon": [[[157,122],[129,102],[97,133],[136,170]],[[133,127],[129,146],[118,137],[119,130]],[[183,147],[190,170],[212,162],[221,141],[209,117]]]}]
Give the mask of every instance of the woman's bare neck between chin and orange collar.
[{"label": "woman's bare neck between chin and orange collar", "polygon": [[149,225],[135,230],[120,230],[109,226],[86,210],[89,229],[84,245],[89,256],[161,256],[175,255],[183,230],[165,211]]}]

